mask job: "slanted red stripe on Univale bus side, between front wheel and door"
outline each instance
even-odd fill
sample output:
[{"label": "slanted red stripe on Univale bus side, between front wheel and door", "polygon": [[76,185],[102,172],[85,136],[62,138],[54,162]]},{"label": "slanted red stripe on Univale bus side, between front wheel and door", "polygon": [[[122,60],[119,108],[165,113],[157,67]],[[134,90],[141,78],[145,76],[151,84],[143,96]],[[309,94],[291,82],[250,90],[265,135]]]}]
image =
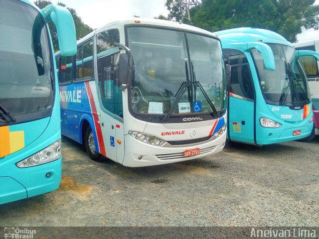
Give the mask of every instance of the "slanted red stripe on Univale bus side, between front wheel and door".
[{"label": "slanted red stripe on Univale bus side, between front wheel and door", "polygon": [[101,154],[106,156],[105,147],[104,147],[104,141],[103,141],[103,135],[102,135],[102,129],[101,129],[101,125],[99,123],[99,117],[98,117],[97,112],[96,112],[96,107],[95,107],[95,103],[94,103],[94,99],[93,99],[90,83],[89,82],[85,82],[85,86],[86,86],[86,91],[87,91],[88,97],[89,97],[89,102],[90,102],[90,106],[91,106],[92,116],[93,116],[93,119],[94,119],[96,136],[97,136],[98,142],[99,142],[99,150],[100,150]]}]

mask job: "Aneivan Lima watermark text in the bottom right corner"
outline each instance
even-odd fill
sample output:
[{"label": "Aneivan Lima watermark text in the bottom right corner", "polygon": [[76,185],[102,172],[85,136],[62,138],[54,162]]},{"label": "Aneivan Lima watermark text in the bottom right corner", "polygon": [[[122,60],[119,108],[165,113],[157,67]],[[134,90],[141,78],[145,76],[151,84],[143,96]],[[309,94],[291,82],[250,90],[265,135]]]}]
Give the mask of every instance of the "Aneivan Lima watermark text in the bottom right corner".
[{"label": "Aneivan Lima watermark text in the bottom right corner", "polygon": [[284,229],[251,229],[251,238],[316,238],[316,230],[301,228]]}]

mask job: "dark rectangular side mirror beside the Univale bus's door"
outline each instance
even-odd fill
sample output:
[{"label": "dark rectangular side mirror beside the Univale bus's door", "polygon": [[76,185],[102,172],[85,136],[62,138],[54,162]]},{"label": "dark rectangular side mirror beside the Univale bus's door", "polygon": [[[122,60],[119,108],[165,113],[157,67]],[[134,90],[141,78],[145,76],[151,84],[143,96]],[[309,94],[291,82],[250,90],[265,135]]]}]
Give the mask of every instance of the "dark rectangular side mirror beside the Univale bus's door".
[{"label": "dark rectangular side mirror beside the Univale bus's door", "polygon": [[[132,55],[130,53],[120,54],[119,66],[118,66],[118,80],[120,85],[126,85],[131,82],[132,78]],[[124,90],[124,89],[123,89]]]}]

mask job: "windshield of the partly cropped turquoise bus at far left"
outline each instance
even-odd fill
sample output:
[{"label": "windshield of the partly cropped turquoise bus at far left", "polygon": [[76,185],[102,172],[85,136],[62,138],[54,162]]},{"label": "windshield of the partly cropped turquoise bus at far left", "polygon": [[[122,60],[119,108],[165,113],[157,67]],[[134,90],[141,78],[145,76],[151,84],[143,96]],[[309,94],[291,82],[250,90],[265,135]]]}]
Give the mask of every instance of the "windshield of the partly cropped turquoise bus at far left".
[{"label": "windshield of the partly cropped turquoise bus at far left", "polygon": [[26,3],[1,0],[0,35],[0,123],[11,123],[3,108],[15,123],[50,115],[54,74],[42,15]]}]

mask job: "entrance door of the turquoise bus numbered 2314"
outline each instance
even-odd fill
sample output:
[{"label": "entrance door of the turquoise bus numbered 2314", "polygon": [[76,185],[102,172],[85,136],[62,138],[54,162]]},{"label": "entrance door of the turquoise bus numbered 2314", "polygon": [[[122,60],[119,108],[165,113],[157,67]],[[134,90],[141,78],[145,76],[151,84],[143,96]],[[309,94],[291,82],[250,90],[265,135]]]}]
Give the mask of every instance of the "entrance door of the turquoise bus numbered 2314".
[{"label": "entrance door of the turquoise bus numbered 2314", "polygon": [[[227,50],[227,49],[226,49]],[[228,84],[228,138],[255,143],[255,88],[245,54],[231,49],[231,77]]]}]

